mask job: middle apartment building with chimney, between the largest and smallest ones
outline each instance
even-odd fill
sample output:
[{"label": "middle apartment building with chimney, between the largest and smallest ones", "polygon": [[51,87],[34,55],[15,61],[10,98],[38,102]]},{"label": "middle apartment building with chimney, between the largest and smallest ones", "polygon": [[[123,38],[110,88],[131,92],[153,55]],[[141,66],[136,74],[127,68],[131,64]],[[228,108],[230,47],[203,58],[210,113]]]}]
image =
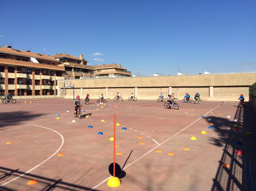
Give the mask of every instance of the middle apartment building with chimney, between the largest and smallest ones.
[{"label": "middle apartment building with chimney, between the largest and smallest ones", "polygon": [[73,55],[61,53],[51,56],[61,62],[65,71],[63,73],[65,79],[79,79],[80,77],[95,77],[95,68],[88,66],[88,60],[83,59],[80,54],[79,58]]}]

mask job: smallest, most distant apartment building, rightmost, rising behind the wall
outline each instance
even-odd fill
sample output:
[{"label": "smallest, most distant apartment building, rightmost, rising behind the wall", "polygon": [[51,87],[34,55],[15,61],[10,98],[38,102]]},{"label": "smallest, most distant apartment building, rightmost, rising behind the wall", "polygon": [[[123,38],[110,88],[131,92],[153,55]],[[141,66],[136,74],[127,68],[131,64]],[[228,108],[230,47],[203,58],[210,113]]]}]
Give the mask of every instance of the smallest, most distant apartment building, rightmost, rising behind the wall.
[{"label": "smallest, most distant apartment building, rightmost, rising behind the wall", "polygon": [[121,64],[102,64],[94,67],[96,69],[96,76],[113,77],[114,75],[119,75],[131,77],[132,75],[131,72],[127,71],[126,68],[123,68]]}]

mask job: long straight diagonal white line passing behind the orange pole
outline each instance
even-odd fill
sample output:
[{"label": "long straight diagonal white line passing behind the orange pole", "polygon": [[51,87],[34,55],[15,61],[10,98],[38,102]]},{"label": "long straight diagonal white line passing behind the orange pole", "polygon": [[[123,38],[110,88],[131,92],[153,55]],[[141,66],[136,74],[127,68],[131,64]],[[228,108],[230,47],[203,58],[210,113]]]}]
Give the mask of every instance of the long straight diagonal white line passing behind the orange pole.
[{"label": "long straight diagonal white line passing behind the orange pole", "polygon": [[[217,107],[219,107],[221,105],[218,105]],[[215,110],[217,107],[213,108],[212,110]],[[207,115],[208,113],[210,113],[212,110],[210,110],[209,112],[207,112],[206,114],[204,114],[203,116]],[[173,136],[171,136],[170,138],[166,139],[164,142],[160,143],[158,146],[156,146],[155,148],[151,149],[150,151],[148,151],[147,153],[145,153],[144,155],[142,155],[141,157],[139,157],[138,159],[136,159],[135,161],[133,161],[132,163],[128,164],[126,167],[123,168],[126,169],[128,167],[130,167],[132,164],[136,163],[138,160],[140,160],[141,158],[145,157],[147,154],[151,153],[152,151],[154,151],[156,148],[160,147],[162,144],[164,144],[165,142],[169,141],[171,138],[173,138],[174,136],[178,135],[179,133],[181,133],[182,131],[184,131],[185,129],[187,129],[189,126],[191,126],[192,124],[194,124],[196,121],[198,121],[200,118],[196,119],[194,122],[190,123],[188,126],[186,126],[185,128],[183,128],[182,130],[180,130],[178,133],[174,134]],[[106,178],[105,180],[103,180],[102,182],[100,182],[99,184],[97,184],[96,186],[94,186],[92,189],[90,189],[89,191],[94,190],[95,188],[99,187],[101,184],[103,184],[104,182],[106,182],[109,178],[111,178],[112,176],[109,176],[108,178]]]}]

